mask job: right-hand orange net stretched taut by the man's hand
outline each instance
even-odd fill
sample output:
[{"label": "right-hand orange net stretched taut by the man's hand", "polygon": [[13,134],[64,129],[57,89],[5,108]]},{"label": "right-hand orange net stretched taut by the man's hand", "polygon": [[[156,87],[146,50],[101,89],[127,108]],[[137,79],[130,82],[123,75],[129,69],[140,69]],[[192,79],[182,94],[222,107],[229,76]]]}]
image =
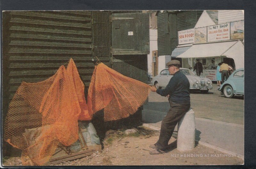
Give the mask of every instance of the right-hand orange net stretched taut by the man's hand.
[{"label": "right-hand orange net stretched taut by the man's hand", "polygon": [[128,117],[145,102],[149,87],[100,63],[95,66],[89,86],[89,114],[104,108],[105,121]]}]

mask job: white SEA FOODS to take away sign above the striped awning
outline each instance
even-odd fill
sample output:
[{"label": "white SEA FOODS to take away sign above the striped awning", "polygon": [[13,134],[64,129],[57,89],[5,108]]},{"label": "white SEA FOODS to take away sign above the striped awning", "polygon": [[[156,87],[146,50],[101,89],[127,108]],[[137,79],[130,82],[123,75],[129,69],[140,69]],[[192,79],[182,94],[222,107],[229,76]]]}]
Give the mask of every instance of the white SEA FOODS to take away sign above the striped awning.
[{"label": "white SEA FOODS to take away sign above the striped awning", "polygon": [[194,29],[187,29],[187,30],[179,31],[178,36],[179,36],[179,45],[195,42],[195,30]]}]

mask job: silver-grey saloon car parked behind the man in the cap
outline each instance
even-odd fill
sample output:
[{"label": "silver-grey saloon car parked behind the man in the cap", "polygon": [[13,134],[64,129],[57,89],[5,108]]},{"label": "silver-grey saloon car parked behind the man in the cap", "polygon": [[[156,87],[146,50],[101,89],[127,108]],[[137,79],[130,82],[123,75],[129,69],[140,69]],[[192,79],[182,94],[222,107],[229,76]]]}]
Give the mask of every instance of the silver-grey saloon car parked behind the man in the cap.
[{"label": "silver-grey saloon car parked behind the man in the cap", "polygon": [[[199,90],[202,93],[208,93],[209,89],[212,89],[212,81],[210,79],[196,76],[190,69],[180,68],[180,71],[188,77],[190,90]],[[155,85],[157,89],[161,89],[167,86],[172,77],[168,68],[164,69],[159,75],[153,77],[152,84]]]}]

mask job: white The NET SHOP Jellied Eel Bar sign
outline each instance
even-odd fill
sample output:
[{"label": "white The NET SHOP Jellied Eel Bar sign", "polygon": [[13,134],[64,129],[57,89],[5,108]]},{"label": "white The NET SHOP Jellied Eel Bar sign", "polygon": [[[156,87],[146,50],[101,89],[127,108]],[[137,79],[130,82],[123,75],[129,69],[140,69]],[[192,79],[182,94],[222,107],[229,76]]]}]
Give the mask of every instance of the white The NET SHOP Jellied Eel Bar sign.
[{"label": "white The NET SHOP Jellied Eel Bar sign", "polygon": [[230,40],[230,23],[207,26],[207,41]]}]

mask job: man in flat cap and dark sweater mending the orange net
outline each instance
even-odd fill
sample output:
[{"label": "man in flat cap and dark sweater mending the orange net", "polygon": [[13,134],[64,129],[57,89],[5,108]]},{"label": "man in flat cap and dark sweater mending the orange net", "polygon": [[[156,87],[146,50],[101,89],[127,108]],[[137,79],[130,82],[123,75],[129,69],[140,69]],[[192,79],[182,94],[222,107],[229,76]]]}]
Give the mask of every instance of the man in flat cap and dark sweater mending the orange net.
[{"label": "man in flat cap and dark sweater mending the orange net", "polygon": [[176,124],[190,108],[189,81],[180,71],[180,61],[172,60],[166,65],[173,77],[164,89],[156,89],[155,86],[152,86],[151,91],[157,92],[161,96],[169,96],[170,109],[161,123],[158,141],[149,145],[149,147],[154,148],[149,152],[150,154],[164,153]]}]

